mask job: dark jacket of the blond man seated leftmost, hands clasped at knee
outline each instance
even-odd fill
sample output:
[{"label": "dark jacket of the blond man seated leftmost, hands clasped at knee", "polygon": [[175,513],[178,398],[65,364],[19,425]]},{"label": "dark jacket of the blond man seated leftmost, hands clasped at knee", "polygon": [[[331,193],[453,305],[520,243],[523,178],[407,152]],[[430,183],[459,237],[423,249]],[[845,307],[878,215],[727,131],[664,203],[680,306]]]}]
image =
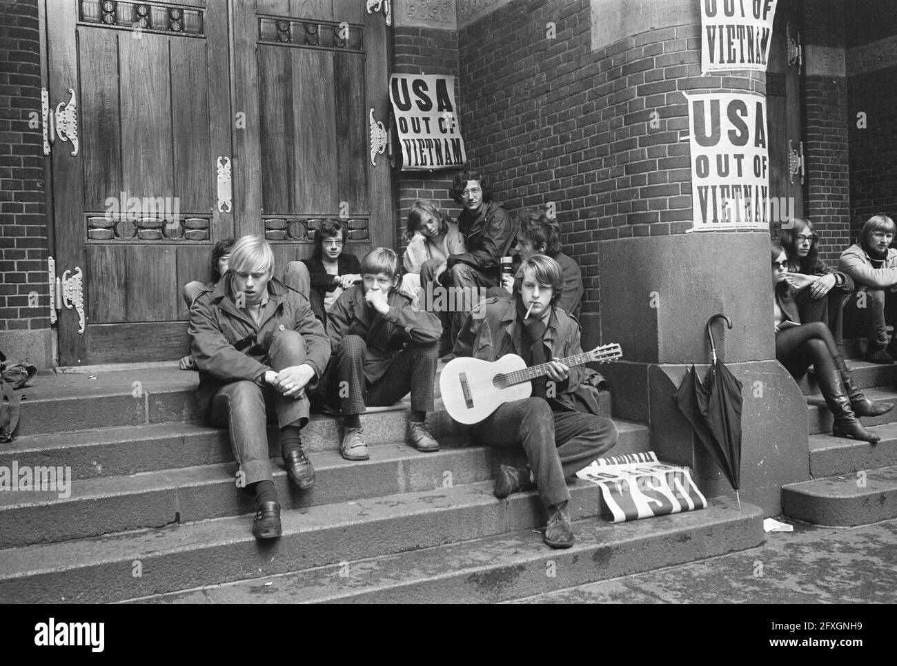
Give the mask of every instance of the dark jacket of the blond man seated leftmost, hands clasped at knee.
[{"label": "dark jacket of the blond man seated leftmost, hands clasped at knee", "polygon": [[190,310],[189,333],[199,368],[198,400],[203,413],[222,384],[245,380],[264,385],[265,373],[272,370],[268,349],[277,330],[290,329],[302,335],[305,363],[315,371],[309,390],[314,388],[327,367],[330,341],[305,297],[272,278],[257,325],[248,311],[237,307],[231,294],[231,274],[227,273],[211,292],[201,294]]}]

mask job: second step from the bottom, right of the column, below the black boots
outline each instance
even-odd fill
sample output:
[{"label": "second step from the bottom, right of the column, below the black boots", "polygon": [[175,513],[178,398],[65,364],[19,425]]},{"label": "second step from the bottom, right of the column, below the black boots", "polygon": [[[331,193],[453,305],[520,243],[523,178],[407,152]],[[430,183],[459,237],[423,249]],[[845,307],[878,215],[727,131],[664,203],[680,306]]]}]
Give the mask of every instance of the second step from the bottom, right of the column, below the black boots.
[{"label": "second step from the bottom, right of the column, below the black boots", "polygon": [[878,434],[881,441],[870,444],[848,437],[832,437],[831,434],[811,434],[811,476],[831,477],[897,465],[897,423],[874,425],[869,430]]}]

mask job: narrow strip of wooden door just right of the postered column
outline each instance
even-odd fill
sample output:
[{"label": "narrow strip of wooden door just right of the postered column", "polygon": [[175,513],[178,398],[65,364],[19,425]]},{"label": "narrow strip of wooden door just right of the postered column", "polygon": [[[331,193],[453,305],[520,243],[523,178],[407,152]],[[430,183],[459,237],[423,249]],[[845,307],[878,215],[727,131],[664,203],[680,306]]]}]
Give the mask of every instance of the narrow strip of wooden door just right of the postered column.
[{"label": "narrow strip of wooden door just right of the postered column", "polygon": [[778,233],[783,223],[779,217],[786,216],[781,208],[786,207],[792,217],[804,215],[802,182],[806,177],[798,164],[804,150],[800,96],[803,63],[797,54],[798,34],[801,32],[799,13],[790,3],[779,2],[772,26],[770,61],[766,68],[766,127],[770,151],[770,197],[775,202],[771,206],[771,230],[774,233]]}]

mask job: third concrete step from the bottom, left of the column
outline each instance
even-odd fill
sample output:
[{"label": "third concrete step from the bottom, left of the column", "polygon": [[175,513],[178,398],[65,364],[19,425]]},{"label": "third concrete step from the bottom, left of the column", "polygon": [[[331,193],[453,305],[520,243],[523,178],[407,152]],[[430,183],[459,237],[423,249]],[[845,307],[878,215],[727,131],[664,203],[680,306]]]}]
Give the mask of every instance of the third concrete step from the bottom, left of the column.
[{"label": "third concrete step from the bottom, left of the column", "polygon": [[[616,425],[620,438],[614,454],[649,451],[646,426]],[[404,443],[371,447],[370,460],[363,462],[343,460],[336,451],[309,453],[309,460],[316,478],[308,492],[294,489],[281,460],[274,462],[274,484],[284,509],[475,483],[494,478],[501,463],[526,463],[521,449],[443,446],[421,453]],[[237,469],[229,461],[129,476],[73,476],[67,497],[56,491],[0,493],[0,548],[252,513],[252,500],[235,488]]]}]

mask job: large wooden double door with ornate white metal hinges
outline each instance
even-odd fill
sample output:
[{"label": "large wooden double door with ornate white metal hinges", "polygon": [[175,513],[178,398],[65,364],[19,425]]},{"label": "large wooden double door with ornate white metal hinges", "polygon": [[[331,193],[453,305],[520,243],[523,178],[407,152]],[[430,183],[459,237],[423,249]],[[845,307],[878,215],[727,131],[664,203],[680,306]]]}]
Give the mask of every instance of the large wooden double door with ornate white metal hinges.
[{"label": "large wooden double door with ornate white metal hinges", "polygon": [[[60,365],[176,359],[213,244],[279,270],[327,217],[394,244],[383,13],[360,0],[43,0]],[[376,161],[376,166],[374,165]],[[80,271],[77,269],[80,268]],[[80,300],[80,307],[78,301]]]}]

